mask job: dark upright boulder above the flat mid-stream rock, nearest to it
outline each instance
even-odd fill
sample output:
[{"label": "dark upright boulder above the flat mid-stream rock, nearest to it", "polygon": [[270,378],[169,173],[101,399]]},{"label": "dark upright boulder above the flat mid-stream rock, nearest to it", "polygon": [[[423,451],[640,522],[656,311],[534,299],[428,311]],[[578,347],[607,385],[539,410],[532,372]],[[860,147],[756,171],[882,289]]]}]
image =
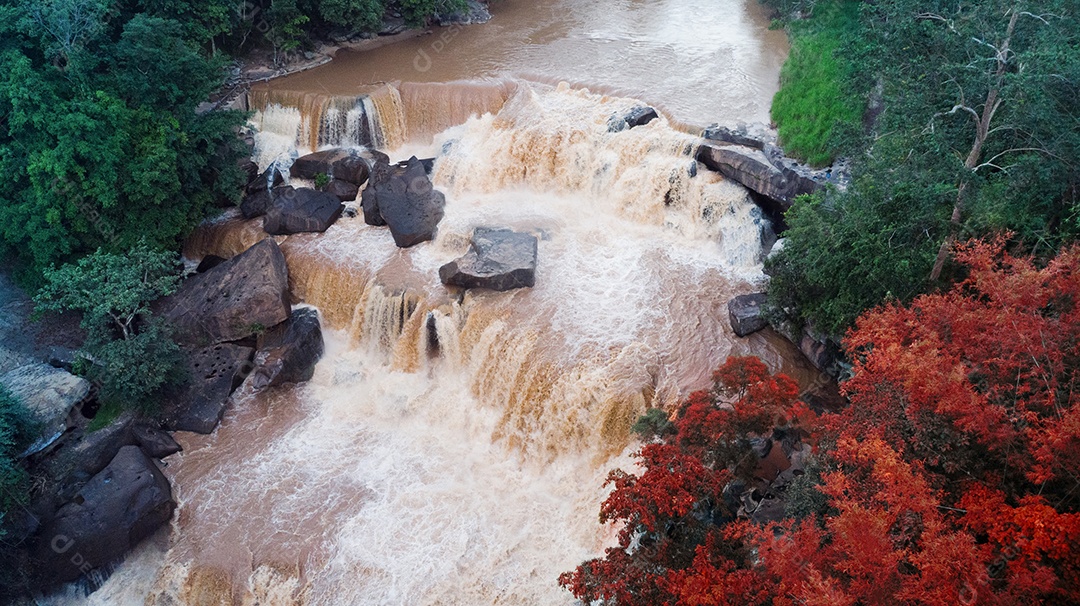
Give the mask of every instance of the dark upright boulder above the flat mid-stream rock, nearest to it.
[{"label": "dark upright boulder above the flat mid-stream rock, nearest to it", "polygon": [[402,248],[435,238],[446,198],[431,184],[423,162],[413,157],[402,170],[377,166],[362,197],[364,220],[387,225]]}]

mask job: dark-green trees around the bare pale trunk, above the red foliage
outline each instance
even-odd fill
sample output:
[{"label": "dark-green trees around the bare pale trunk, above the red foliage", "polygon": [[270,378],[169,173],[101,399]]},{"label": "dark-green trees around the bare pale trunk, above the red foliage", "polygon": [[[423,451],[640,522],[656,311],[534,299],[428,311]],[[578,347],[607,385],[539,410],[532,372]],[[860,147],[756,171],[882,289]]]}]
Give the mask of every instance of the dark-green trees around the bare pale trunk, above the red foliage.
[{"label": "dark-green trees around the bare pale trunk, above the red foliage", "polygon": [[[798,201],[768,265],[771,304],[834,335],[885,300],[960,277],[946,265],[930,280],[950,234],[1012,231],[1041,258],[1080,234],[1080,24],[1067,2],[882,0],[863,3],[859,19],[858,44],[843,48],[863,87],[846,94],[876,82],[883,109],[853,154],[850,187]],[[976,147],[988,102],[996,111]]]}]

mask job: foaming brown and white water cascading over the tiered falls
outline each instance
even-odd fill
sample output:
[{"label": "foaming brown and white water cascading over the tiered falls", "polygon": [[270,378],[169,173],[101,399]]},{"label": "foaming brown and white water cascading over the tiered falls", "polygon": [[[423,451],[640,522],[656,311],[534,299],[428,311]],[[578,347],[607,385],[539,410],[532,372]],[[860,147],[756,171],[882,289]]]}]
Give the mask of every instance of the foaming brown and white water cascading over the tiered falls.
[{"label": "foaming brown and white water cascading over the tiered falls", "polygon": [[[768,225],[742,188],[697,172],[696,138],[665,119],[608,132],[632,100],[477,90],[440,109],[388,86],[340,106],[353,108],[345,120],[337,102],[260,102],[264,165],[274,146],[295,154],[361,132],[361,115],[397,144],[418,122],[445,123],[427,149],[446,216],[435,241],[407,250],[362,218],[280,239],[294,298],[326,329],[314,378],[269,394],[245,385],[215,434],[179,435],[170,536],[90,603],[571,602],[556,577],[610,544],[596,511],[607,470],[632,464],[633,420],[745,352],[726,302],[764,279]],[[187,253],[231,256],[258,221],[204,226]],[[438,282],[478,226],[539,235],[536,287],[458,295]]]}]

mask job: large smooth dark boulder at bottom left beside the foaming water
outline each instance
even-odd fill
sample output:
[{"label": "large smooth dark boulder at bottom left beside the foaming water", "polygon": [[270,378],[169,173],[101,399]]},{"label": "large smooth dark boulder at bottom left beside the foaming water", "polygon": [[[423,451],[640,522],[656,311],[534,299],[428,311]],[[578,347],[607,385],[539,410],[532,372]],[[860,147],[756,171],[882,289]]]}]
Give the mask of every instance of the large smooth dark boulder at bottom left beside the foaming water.
[{"label": "large smooth dark boulder at bottom left beside the foaming water", "polygon": [[175,508],[154,462],[137,446],[120,448],[39,535],[41,581],[70,581],[108,564],[168,522]]}]

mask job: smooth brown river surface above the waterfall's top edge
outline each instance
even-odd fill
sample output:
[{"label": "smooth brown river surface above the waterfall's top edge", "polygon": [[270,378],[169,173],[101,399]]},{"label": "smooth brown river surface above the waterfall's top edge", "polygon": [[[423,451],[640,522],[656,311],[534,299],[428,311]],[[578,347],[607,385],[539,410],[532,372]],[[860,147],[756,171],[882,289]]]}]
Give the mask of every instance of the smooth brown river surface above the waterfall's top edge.
[{"label": "smooth brown river surface above the waterfall's top edge", "polygon": [[642,99],[673,121],[768,122],[787,57],[756,0],[501,0],[487,24],[364,52],[273,80],[275,90],[354,95],[380,82],[524,78]]}]

